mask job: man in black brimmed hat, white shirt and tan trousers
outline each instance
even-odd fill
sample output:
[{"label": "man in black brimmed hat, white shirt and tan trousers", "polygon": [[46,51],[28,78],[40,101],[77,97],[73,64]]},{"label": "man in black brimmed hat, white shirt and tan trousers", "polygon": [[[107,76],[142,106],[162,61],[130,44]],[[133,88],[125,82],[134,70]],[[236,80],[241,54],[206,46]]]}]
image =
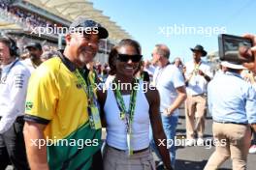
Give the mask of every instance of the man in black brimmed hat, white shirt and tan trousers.
[{"label": "man in black brimmed hat, white shirt and tan trousers", "polygon": [[[207,85],[212,78],[208,63],[202,57],[208,53],[200,44],[190,48],[193,60],[186,63],[185,82],[187,99],[186,115],[186,146],[204,146],[205,112],[207,105]],[[197,141],[195,140],[197,133]]]}]

